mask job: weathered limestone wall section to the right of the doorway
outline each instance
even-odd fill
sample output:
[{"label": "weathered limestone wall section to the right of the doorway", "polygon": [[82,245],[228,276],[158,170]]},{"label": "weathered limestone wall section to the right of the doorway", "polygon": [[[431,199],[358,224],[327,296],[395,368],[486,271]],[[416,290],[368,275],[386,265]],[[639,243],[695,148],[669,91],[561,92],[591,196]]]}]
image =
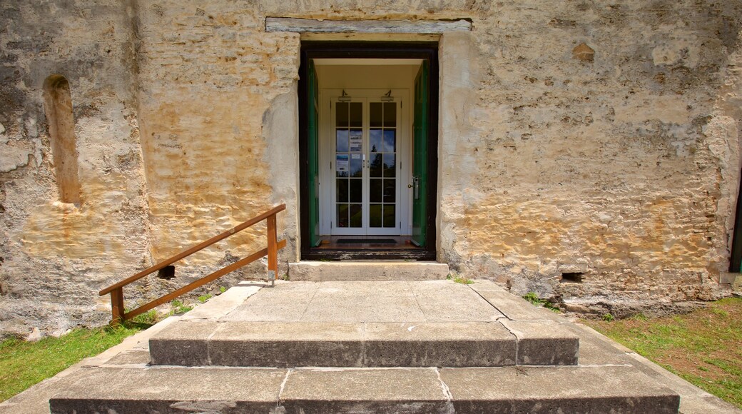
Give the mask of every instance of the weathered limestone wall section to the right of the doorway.
[{"label": "weathered limestone wall section to the right of the doorway", "polygon": [[444,36],[441,259],[582,311],[723,295],[741,13],[519,2]]}]

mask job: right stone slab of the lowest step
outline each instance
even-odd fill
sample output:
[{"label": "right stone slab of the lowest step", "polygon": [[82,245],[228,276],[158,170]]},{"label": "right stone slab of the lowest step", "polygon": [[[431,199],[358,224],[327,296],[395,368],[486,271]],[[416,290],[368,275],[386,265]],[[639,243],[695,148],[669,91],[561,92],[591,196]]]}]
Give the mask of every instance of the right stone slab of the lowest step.
[{"label": "right stone slab of the lowest step", "polygon": [[677,413],[680,397],[632,367],[441,369],[456,413]]}]

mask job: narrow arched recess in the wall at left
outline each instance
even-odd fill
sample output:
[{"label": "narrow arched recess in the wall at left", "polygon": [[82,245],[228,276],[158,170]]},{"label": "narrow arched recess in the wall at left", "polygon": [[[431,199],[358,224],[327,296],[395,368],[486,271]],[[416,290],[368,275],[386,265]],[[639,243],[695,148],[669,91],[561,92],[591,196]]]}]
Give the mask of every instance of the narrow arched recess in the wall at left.
[{"label": "narrow arched recess in the wall at left", "polygon": [[72,114],[70,82],[65,76],[51,75],[45,80],[44,105],[59,201],[79,205],[75,119]]}]

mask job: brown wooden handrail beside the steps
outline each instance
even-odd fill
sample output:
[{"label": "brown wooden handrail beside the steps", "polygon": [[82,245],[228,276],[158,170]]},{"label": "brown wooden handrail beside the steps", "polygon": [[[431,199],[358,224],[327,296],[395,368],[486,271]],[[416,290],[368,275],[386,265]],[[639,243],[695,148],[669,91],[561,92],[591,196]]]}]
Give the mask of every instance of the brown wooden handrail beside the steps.
[{"label": "brown wooden handrail beside the steps", "polygon": [[[111,294],[111,313],[113,314],[113,319],[111,320],[111,323],[112,324],[119,323],[120,321],[125,321],[129,318],[134,318],[134,316],[137,316],[143,312],[147,312],[149,309],[152,309],[155,306],[160,306],[162,305],[162,303],[166,303],[174,298],[177,298],[180,295],[184,295],[185,293],[191,292],[191,290],[193,289],[203,286],[206,283],[211,282],[212,280],[216,280],[217,278],[222,277],[223,275],[226,275],[229,272],[233,272],[234,270],[240,269],[240,267],[246,266],[247,264],[260,259],[260,257],[265,257],[266,255],[268,256],[268,271],[273,272],[273,278],[275,279],[277,277],[277,272],[278,272],[278,250],[283,249],[283,247],[286,246],[286,240],[278,241],[278,234],[277,234],[277,229],[276,229],[276,214],[278,214],[278,212],[283,211],[283,210],[286,210],[286,204],[275,206],[274,208],[271,208],[269,211],[266,211],[265,213],[260,214],[257,217],[247,220],[246,222],[241,223],[240,225],[235,226],[232,229],[224,231],[223,233],[217,236],[211,237],[209,240],[206,240],[203,243],[199,243],[196,246],[191,247],[191,249],[184,250],[183,252],[180,252],[174,255],[173,257],[168,258],[167,260],[163,260],[162,262],[157,263],[154,266],[148,267],[147,269],[142,270],[142,272],[137,273],[137,275],[127,277],[126,279],[120,281],[119,283],[114,283],[113,285],[108,286],[105,289],[102,289],[99,292],[100,296],[107,295],[108,293]],[[145,305],[139,306],[137,309],[134,309],[131,312],[125,312],[124,293],[123,293],[124,286],[130,283],[133,283],[141,279],[142,277],[150,275],[151,273],[157,272],[158,270],[165,268],[165,266],[169,266],[172,263],[177,262],[178,260],[188,257],[191,254],[194,254],[195,252],[199,252],[200,250],[205,249],[206,247],[209,247],[212,244],[217,243],[220,240],[223,240],[229,236],[232,236],[232,234],[237,234],[238,232],[243,231],[244,229],[247,229],[250,226],[260,223],[263,220],[266,220],[267,227],[268,227],[267,229],[268,247],[266,247],[266,249],[262,249],[259,252],[255,252],[241,260],[237,260],[237,262],[232,263],[229,266],[225,266],[222,269],[219,269],[216,272],[211,273],[211,275],[202,277],[199,280],[196,280],[192,283],[189,283],[186,286],[183,286],[180,289],[175,290],[174,292],[168,293],[168,295],[164,295],[160,298],[152,300],[149,303],[146,303]]]}]

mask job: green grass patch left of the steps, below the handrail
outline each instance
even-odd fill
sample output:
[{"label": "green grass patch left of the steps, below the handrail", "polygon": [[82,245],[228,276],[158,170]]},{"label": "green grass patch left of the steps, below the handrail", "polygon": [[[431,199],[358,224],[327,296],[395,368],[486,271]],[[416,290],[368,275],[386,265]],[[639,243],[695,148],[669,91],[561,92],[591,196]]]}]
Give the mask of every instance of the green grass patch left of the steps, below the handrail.
[{"label": "green grass patch left of the steps, below the handrail", "polygon": [[0,401],[148,328],[150,324],[142,322],[147,318],[135,318],[116,327],[74,329],[59,338],[46,337],[38,342],[19,339],[0,342]]}]

